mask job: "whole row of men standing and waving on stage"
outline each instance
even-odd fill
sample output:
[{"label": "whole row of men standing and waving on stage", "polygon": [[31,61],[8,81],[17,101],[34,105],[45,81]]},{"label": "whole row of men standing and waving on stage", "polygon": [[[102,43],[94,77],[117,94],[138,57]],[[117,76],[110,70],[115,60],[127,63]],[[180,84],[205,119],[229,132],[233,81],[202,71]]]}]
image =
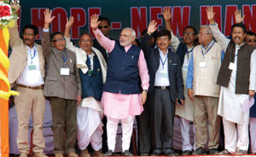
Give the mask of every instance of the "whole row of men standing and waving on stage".
[{"label": "whole row of men standing and waving on stage", "polygon": [[[12,7],[17,8],[17,3]],[[235,14],[236,21],[241,22],[241,13]],[[27,127],[31,112],[33,152],[36,157],[45,156],[45,97],[52,110],[57,157],[77,157],[76,138],[82,157],[90,156],[89,144],[94,155],[102,155],[104,114],[108,119],[105,156],[114,154],[119,120],[123,155],[133,155],[129,151],[131,134],[135,116],[140,114],[141,155],[147,156],[151,150],[152,155],[177,155],[173,149],[175,114],[180,121],[184,155],[192,154],[193,149],[194,154],[207,154],[206,145],[209,154],[218,154],[219,115],[223,117],[225,135],[225,149],[220,154],[247,154],[249,112],[242,112],[241,103],[255,94],[256,56],[255,45],[253,48],[244,43],[246,27],[241,23],[233,25],[232,38],[225,38],[209,7],[210,26],[201,26],[198,34],[195,27],[186,26],[181,43],[172,33],[171,10],[164,9],[163,16],[166,29],[156,32],[154,48],[149,46],[157,30],[154,20],[140,47],[132,44],[136,33],[129,27],[122,30],[119,41],[109,38],[109,20],[99,19],[98,15],[90,17],[96,39],[83,33],[79,47],[69,37],[73,17],[67,19],[64,34],[49,35],[49,24],[55,18],[49,9],[44,11],[41,45],[34,43],[38,37],[36,26],[25,26],[23,39],[17,26],[10,28],[13,51],[9,80],[20,91],[20,96],[15,97],[20,156],[26,157],[29,151]],[[199,45],[195,44],[196,38]],[[251,39],[254,44],[255,38]],[[173,49],[169,49],[170,45]],[[189,142],[191,121],[195,126],[194,146]]]}]

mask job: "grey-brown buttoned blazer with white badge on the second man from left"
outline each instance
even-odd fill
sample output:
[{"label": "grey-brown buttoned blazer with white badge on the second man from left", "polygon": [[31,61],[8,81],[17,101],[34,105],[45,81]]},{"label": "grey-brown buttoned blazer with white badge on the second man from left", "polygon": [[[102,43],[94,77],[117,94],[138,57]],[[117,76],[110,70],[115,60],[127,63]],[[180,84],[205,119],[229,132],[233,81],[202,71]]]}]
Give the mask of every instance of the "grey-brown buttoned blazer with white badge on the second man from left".
[{"label": "grey-brown buttoned blazer with white badge on the second man from left", "polygon": [[[63,99],[77,100],[82,95],[79,69],[76,67],[76,55],[68,49],[62,51],[50,46],[49,32],[42,32],[42,49],[47,62],[47,75],[44,84],[44,96],[55,96]],[[67,52],[67,64],[63,57]],[[61,67],[69,68],[69,75],[61,75]]]}]

